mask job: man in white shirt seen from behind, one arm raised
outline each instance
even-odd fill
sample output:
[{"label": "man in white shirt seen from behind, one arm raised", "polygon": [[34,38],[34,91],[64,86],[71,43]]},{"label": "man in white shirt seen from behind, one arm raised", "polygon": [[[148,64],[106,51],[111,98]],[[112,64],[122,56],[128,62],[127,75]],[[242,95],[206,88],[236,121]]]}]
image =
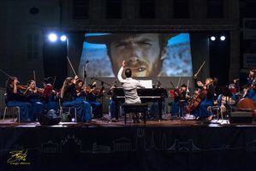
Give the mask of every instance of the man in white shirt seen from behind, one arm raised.
[{"label": "man in white shirt seen from behind, one arm raised", "polygon": [[[125,61],[122,61],[122,67],[120,68],[117,79],[121,82],[123,91],[124,91],[124,97],[125,97],[125,103],[141,103],[140,97],[138,96],[137,88],[145,88],[143,85],[141,85],[139,80],[134,80],[132,78],[132,70],[129,68],[126,68],[124,71],[124,74],[126,76],[126,79],[122,79],[122,71],[125,67]],[[134,118],[134,122],[138,122],[139,118],[136,115]]]}]

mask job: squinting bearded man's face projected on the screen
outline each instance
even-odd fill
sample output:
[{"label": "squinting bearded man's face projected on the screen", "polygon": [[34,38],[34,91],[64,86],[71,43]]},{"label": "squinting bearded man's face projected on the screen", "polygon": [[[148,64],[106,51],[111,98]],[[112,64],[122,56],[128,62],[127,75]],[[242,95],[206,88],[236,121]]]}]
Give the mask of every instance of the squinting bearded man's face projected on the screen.
[{"label": "squinting bearded man's face projected on the screen", "polygon": [[161,71],[158,33],[127,34],[110,43],[110,61],[117,74],[125,60],[134,77],[157,76]]}]

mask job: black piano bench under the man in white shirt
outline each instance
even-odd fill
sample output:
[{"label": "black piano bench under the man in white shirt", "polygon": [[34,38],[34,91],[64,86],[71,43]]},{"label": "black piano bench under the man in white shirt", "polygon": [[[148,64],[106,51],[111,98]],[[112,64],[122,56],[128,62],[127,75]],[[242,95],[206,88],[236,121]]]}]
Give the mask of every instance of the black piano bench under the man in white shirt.
[{"label": "black piano bench under the man in white shirt", "polygon": [[144,123],[146,124],[146,112],[147,112],[147,103],[123,103],[122,105],[124,111],[124,123],[126,124],[126,114],[127,113],[143,113]]}]

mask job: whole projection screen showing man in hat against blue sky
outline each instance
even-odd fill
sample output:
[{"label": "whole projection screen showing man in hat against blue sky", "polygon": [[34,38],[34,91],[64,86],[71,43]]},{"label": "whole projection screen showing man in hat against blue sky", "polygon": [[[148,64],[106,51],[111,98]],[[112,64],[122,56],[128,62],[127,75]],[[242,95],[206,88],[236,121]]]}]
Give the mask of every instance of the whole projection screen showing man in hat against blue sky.
[{"label": "whole projection screen showing man in hat against blue sky", "polygon": [[134,77],[192,76],[189,34],[85,34],[80,75],[115,77],[123,60]]}]

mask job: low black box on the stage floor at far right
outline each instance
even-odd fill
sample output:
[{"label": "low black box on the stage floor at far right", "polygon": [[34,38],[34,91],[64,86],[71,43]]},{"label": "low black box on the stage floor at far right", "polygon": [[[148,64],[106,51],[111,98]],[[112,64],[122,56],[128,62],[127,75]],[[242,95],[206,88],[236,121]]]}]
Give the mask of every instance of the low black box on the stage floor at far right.
[{"label": "low black box on the stage floor at far right", "polygon": [[253,113],[247,111],[236,111],[230,113],[230,123],[252,123]]}]

